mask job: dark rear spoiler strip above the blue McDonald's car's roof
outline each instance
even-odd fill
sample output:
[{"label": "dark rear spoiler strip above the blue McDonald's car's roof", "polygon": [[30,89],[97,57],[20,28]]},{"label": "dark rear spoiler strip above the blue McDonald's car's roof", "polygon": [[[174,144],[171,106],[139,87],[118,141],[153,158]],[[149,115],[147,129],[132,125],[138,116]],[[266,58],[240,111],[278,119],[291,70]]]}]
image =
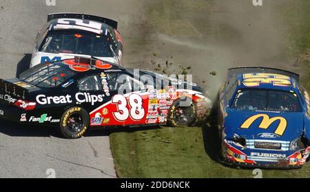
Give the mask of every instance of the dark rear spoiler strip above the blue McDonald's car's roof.
[{"label": "dark rear spoiler strip above the blue McDonald's car's roof", "polygon": [[236,74],[243,74],[243,73],[275,73],[278,75],[286,75],[296,81],[299,82],[299,74],[290,72],[288,70],[282,70],[278,68],[268,68],[268,67],[236,67],[236,68],[229,68],[228,69],[228,77],[234,77]]}]

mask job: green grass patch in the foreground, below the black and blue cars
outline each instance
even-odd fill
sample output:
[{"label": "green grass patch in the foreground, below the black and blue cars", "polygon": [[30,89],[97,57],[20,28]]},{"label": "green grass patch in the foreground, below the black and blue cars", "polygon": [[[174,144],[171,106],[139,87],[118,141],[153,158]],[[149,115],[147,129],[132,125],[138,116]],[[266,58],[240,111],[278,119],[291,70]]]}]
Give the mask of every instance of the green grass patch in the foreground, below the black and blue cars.
[{"label": "green grass patch in the foreground, below the black and blue cars", "polygon": [[[112,133],[118,177],[254,177],[251,169],[224,166],[216,157],[211,127],[152,128]],[[263,170],[263,177],[310,177],[310,164],[296,170]]]}]

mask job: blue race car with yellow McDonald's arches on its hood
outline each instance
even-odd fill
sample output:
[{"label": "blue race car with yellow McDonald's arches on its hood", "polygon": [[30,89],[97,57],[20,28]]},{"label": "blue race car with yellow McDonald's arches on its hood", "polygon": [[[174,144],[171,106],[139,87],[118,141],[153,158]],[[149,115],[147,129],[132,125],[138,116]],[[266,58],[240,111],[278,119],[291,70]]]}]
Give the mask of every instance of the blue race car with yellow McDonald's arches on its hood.
[{"label": "blue race car with yellow McDonald's arches on its hood", "polygon": [[218,93],[218,129],[226,163],[300,168],[310,154],[309,94],[296,73],[230,68]]}]

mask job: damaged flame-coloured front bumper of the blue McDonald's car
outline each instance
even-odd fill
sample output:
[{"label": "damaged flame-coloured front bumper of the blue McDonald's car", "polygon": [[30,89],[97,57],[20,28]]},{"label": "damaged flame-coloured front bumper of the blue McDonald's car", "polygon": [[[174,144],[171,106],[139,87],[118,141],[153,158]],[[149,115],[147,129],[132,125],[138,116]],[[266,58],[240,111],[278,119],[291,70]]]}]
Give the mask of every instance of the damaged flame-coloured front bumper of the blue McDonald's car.
[{"label": "damaged flame-coloured front bumper of the blue McDonald's car", "polygon": [[[243,153],[238,147],[234,147],[233,144],[224,141],[222,145],[223,163],[261,169],[298,169],[306,162],[309,152],[310,148],[306,148],[302,151],[296,151],[283,159],[276,157],[256,157],[256,160],[253,160],[254,157]],[[264,153],[272,153],[272,151],[264,151]]]}]

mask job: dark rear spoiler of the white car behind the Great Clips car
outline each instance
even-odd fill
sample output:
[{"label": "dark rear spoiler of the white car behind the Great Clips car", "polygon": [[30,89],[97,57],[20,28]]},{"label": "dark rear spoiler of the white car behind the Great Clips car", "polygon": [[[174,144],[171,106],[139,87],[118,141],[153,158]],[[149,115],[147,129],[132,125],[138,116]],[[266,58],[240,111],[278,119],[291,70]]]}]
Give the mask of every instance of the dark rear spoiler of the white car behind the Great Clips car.
[{"label": "dark rear spoiler of the white car behind the Great Clips car", "polygon": [[59,12],[59,13],[48,14],[48,21],[50,21],[52,19],[61,19],[61,18],[88,19],[88,20],[92,20],[92,21],[105,23],[114,29],[117,29],[117,24],[118,24],[117,21],[114,21],[112,19],[107,19],[104,17],[96,16],[96,15],[87,15],[87,14],[83,14],[83,13]]}]

